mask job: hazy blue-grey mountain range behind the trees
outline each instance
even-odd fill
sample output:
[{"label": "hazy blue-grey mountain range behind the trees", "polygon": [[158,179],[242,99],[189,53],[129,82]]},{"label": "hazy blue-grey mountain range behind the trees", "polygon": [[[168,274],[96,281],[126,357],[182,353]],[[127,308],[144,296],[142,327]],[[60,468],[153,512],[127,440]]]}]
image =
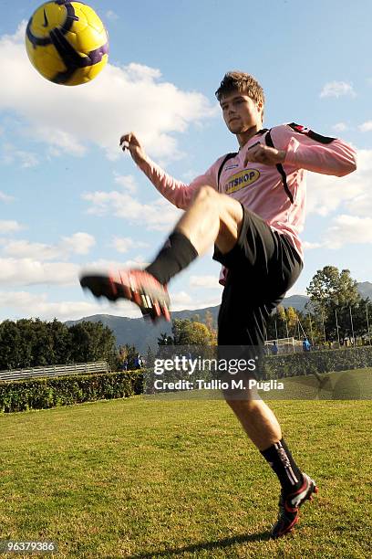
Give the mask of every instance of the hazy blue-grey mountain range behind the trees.
[{"label": "hazy blue-grey mountain range behind the trees", "polygon": [[[358,291],[363,298],[369,297],[372,301],[372,283],[364,281],[357,284]],[[285,308],[294,307],[297,311],[305,311],[305,304],[309,298],[305,295],[292,295],[284,298],[282,305]],[[211,312],[213,323],[217,324],[217,316],[220,306],[207,307],[206,309],[197,309],[194,311],[174,311],[171,313],[172,319],[191,319],[196,318],[199,322],[205,321],[208,311]],[[140,353],[146,353],[148,347],[156,349],[158,346],[158,338],[161,333],[171,334],[171,322],[161,321],[152,325],[145,322],[142,318],[130,319],[125,316],[113,316],[111,314],[94,314],[79,319],[78,321],[68,321],[67,326],[72,326],[78,322],[102,322],[105,326],[114,332],[118,345],[134,345]]]}]

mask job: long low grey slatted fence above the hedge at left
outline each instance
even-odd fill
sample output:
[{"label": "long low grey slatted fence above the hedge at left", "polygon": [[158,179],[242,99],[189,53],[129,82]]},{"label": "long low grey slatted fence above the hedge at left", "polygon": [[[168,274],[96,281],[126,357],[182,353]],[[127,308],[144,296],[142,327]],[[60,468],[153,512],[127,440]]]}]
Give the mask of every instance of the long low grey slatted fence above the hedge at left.
[{"label": "long low grey slatted fence above the hedge at left", "polygon": [[47,367],[32,367],[16,371],[0,371],[0,381],[23,380],[26,378],[40,378],[64,376],[66,374],[108,373],[109,364],[106,361],[96,363],[79,363],[65,365],[50,365]]}]

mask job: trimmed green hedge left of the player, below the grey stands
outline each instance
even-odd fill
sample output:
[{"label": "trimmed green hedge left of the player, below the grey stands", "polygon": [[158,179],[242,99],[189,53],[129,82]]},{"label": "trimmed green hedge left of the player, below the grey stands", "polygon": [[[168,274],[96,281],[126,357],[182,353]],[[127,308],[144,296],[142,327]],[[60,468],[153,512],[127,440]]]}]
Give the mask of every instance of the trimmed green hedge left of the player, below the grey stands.
[{"label": "trimmed green hedge left of the player, below the grey stands", "polygon": [[143,392],[143,374],[125,371],[0,382],[0,412],[47,409]]}]

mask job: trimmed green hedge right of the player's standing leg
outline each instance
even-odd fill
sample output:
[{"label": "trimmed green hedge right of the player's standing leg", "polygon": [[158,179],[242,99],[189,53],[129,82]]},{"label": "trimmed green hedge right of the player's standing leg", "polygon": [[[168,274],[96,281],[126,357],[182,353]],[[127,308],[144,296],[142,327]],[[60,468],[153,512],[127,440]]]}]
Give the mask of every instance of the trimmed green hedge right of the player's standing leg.
[{"label": "trimmed green hedge right of the player's standing leg", "polygon": [[352,347],[321,352],[270,355],[264,359],[266,378],[330,373],[372,367],[372,347]]}]

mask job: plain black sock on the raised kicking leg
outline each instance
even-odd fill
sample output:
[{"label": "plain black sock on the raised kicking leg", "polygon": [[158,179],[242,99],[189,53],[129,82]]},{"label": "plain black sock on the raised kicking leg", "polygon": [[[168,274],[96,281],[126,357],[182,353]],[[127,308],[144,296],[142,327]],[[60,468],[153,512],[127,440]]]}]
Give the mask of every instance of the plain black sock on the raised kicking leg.
[{"label": "plain black sock on the raised kicking leg", "polygon": [[146,271],[164,285],[197,257],[198,252],[190,239],[179,231],[173,231]]}]

